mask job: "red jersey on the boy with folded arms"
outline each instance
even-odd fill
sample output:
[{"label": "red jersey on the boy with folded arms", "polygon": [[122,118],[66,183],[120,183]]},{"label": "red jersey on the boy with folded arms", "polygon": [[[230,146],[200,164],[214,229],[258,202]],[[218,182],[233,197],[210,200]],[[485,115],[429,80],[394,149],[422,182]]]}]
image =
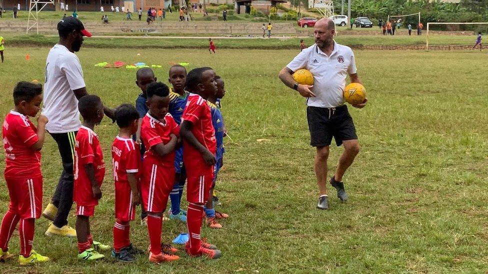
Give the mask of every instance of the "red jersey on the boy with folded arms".
[{"label": "red jersey on the boy with folded arms", "polygon": [[174,167],[174,151],[164,157],[159,157],[152,151],[152,147],[163,143],[167,144],[171,137],[170,135],[179,135],[179,126],[173,119],[171,114],[167,113],[162,120],[157,120],[147,113],[142,118],[140,125],[140,139],[144,143],[146,151],[144,153],[144,161],[150,161],[165,167]]}]

